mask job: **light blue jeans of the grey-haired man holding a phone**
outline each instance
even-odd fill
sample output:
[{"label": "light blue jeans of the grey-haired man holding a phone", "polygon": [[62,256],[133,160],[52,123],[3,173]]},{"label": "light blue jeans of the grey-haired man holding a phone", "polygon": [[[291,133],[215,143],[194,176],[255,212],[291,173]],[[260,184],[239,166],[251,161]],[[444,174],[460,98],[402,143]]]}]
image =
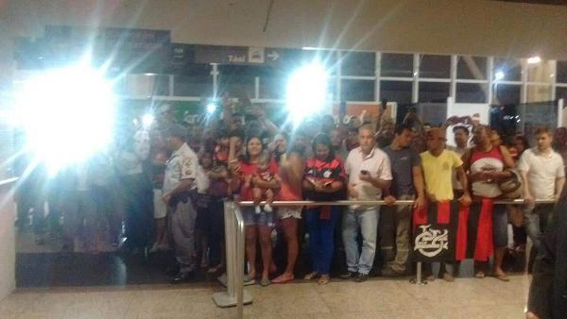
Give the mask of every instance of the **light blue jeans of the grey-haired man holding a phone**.
[{"label": "light blue jeans of the grey-haired man holding a phone", "polygon": [[[370,210],[348,210],[342,218],[342,241],[346,265],[352,273],[369,274],[376,254],[376,235],[380,207]],[[362,234],[362,253],[358,253],[357,235]]]}]

